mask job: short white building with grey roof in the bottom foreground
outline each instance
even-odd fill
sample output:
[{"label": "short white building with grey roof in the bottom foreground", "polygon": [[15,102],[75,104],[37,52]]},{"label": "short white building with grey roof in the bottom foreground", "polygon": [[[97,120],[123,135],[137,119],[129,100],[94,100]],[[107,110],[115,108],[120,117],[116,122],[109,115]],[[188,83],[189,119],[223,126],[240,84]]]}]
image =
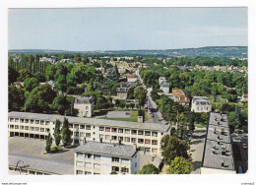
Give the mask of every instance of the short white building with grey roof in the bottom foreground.
[{"label": "short white building with grey roof in the bottom foreground", "polygon": [[135,174],[140,169],[136,146],[87,142],[75,149],[75,174]]}]

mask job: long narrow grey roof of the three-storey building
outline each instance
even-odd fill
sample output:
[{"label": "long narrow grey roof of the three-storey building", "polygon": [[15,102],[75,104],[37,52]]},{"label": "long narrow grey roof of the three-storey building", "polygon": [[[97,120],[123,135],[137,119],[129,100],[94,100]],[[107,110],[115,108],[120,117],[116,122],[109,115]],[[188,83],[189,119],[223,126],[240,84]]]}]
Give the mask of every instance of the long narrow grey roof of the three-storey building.
[{"label": "long narrow grey roof of the three-storey building", "polygon": [[[59,119],[60,121],[63,121],[65,116],[54,115],[54,114],[12,111],[8,113],[8,117],[24,118],[24,119],[40,119],[40,120],[48,120],[48,121],[56,121],[56,119]],[[105,126],[105,127],[108,126],[108,127],[150,130],[150,131],[160,131],[160,132],[167,132],[170,128],[169,125],[164,125],[162,123],[137,123],[137,122],[128,122],[128,121],[116,121],[116,120],[73,117],[73,116],[66,116],[66,118],[68,118],[69,123],[72,123],[72,124],[76,124],[76,123],[90,124],[94,126]]]}]

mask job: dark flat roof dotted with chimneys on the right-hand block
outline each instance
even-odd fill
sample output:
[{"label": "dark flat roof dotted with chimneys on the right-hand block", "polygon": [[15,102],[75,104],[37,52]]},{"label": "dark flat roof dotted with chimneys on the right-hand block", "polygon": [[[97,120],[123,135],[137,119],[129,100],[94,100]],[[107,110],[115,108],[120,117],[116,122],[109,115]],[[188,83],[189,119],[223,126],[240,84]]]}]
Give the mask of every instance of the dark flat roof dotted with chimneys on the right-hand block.
[{"label": "dark flat roof dotted with chimneys on the right-hand block", "polygon": [[234,170],[233,152],[226,114],[211,112],[202,167]]}]

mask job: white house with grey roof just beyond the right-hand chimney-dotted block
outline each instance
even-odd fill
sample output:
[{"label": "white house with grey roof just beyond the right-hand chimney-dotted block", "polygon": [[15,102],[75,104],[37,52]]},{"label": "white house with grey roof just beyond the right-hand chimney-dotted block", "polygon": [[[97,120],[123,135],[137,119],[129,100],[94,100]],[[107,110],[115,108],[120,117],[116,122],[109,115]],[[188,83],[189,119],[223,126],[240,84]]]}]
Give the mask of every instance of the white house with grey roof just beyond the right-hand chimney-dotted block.
[{"label": "white house with grey roof just beyond the right-hand chimney-dotted block", "polygon": [[211,112],[212,105],[206,96],[194,96],[191,103],[191,111],[194,112]]}]

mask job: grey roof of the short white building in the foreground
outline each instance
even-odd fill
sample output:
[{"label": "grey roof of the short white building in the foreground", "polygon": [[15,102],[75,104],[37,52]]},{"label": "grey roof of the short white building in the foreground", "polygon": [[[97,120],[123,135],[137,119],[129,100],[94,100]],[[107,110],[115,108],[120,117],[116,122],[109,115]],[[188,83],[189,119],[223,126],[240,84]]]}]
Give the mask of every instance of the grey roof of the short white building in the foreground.
[{"label": "grey roof of the short white building in the foreground", "polygon": [[135,150],[133,146],[100,143],[100,142],[87,142],[86,144],[77,147],[75,149],[75,152],[132,157],[138,151]]}]

